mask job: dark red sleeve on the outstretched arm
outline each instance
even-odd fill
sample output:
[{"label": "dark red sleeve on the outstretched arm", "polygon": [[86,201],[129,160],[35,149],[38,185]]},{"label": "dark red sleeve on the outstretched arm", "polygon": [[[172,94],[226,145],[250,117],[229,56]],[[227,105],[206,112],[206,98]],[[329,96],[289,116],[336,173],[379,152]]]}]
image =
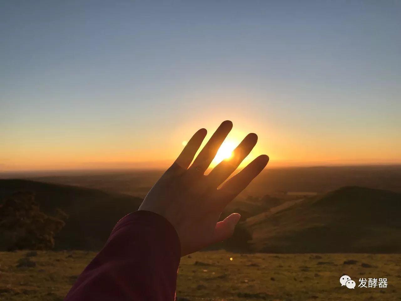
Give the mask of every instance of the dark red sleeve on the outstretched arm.
[{"label": "dark red sleeve on the outstretched arm", "polygon": [[162,216],[137,211],[115,225],[65,301],[173,301],[180,241]]}]

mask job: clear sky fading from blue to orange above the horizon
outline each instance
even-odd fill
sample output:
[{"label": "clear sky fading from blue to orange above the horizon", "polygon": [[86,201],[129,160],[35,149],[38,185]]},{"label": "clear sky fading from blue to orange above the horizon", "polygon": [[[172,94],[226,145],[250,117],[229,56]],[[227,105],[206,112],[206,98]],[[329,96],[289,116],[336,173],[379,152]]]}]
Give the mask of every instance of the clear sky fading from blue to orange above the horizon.
[{"label": "clear sky fading from blue to orange above the horizon", "polygon": [[[0,171],[401,163],[400,1],[0,1]],[[217,163],[217,162],[215,162]]]}]

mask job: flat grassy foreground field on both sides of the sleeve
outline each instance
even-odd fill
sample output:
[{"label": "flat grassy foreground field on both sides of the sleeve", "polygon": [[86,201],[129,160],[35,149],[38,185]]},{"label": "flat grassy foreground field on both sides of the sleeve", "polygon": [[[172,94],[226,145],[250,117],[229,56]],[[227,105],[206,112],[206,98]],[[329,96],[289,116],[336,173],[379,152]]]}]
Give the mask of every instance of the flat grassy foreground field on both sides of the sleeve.
[{"label": "flat grassy foreground field on both sides of the sleeve", "polygon": [[[62,300],[95,255],[26,254],[0,252],[0,300]],[[18,262],[26,265],[26,260],[34,266],[17,267]],[[348,260],[356,262],[344,264]],[[355,289],[340,286],[344,274],[356,282]],[[388,286],[360,288],[359,278],[387,278]],[[197,252],[181,259],[177,296],[178,300],[401,300],[401,256]]]}]

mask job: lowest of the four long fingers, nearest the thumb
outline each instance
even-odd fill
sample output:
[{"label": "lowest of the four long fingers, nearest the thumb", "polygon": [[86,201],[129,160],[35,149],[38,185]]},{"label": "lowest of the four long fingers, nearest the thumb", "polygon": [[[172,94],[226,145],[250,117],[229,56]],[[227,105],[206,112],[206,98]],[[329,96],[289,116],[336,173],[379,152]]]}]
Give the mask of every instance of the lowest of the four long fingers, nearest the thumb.
[{"label": "lowest of the four long fingers, nearest the thumb", "polygon": [[242,171],[223,184],[221,189],[217,189],[217,202],[219,208],[224,208],[241,191],[259,175],[269,162],[267,155],[261,155],[249,163]]}]

